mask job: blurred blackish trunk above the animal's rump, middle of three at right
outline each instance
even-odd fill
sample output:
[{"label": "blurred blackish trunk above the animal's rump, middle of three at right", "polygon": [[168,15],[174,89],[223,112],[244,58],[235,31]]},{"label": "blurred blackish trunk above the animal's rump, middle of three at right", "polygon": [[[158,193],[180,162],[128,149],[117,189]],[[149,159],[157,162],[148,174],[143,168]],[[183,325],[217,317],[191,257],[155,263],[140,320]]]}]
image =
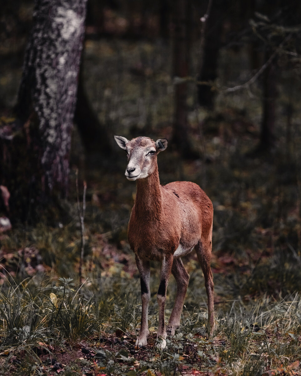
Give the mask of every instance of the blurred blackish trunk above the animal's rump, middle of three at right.
[{"label": "blurred blackish trunk above the animal's rump, middle of three at right", "polygon": [[[213,0],[209,17],[205,21],[204,41],[201,51],[199,81],[213,82],[218,76],[218,55],[221,47],[222,21],[225,2]],[[198,85],[198,103],[213,109],[215,92],[209,85]]]}]

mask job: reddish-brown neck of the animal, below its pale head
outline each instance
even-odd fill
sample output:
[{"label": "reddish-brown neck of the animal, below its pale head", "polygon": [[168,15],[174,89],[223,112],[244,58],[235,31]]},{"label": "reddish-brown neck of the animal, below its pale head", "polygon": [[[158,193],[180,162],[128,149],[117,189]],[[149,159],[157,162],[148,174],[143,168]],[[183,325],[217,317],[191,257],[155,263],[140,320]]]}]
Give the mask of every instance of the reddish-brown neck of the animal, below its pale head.
[{"label": "reddish-brown neck of the animal, below its pale head", "polygon": [[141,219],[160,219],[162,193],[157,165],[153,174],[144,179],[137,180],[135,208],[138,209],[136,214],[141,217]]}]

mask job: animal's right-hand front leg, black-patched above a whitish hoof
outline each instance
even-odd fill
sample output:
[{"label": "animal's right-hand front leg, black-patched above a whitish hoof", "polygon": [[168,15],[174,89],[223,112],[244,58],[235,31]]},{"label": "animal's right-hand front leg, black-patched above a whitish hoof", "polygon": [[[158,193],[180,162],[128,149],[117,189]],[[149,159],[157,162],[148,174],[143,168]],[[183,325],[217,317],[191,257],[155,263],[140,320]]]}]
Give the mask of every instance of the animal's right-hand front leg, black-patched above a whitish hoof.
[{"label": "animal's right-hand front leg, black-patched above a whitish hoof", "polygon": [[172,254],[166,255],[163,258],[160,272],[160,285],[157,293],[157,301],[159,305],[159,326],[157,338],[161,340],[159,349],[163,350],[166,347],[166,331],[165,331],[165,302],[166,290],[168,285],[169,276],[171,273],[173,256]]}]

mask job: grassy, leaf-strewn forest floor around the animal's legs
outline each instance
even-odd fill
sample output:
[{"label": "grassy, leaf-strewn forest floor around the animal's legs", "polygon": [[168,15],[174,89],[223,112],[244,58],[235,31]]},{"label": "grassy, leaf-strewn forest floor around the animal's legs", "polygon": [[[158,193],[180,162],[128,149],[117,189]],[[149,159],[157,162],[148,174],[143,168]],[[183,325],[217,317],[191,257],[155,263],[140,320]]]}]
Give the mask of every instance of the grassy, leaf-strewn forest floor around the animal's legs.
[{"label": "grassy, leaf-strewn forest floor around the animal's legs", "polygon": [[[252,268],[247,260],[237,261],[230,254],[213,257],[216,327],[207,338],[204,281],[192,258],[185,263],[191,280],[181,326],[160,351],[156,347],[159,265],[154,263],[150,337],[147,347],[136,351],[141,301],[133,257],[109,244],[100,247],[103,258],[98,262],[105,266],[92,265],[80,285],[74,284],[77,278],[51,277],[50,267],[42,262],[35,265],[32,248],[24,249],[25,261],[2,251],[2,262],[3,257],[10,267],[18,262],[20,272],[14,279],[6,274],[0,292],[1,375],[300,373],[301,299],[299,293],[285,290],[290,283],[299,284],[299,265],[281,266],[278,254],[253,255],[258,264]],[[22,262],[23,273],[32,273],[33,268],[35,272],[17,282]],[[277,281],[283,281],[285,293],[277,290]],[[171,279],[167,317],[174,297]]]}]

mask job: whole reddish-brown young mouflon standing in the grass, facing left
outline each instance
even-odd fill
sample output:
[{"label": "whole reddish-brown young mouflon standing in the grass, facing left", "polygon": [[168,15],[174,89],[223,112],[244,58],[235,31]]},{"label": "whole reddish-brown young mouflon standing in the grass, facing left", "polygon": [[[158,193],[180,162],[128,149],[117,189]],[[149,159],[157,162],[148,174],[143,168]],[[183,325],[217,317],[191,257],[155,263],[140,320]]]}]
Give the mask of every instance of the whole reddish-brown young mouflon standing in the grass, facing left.
[{"label": "whole reddish-brown young mouflon standing in the grass, facing left", "polygon": [[[148,303],[150,301],[150,260],[161,262],[160,285],[157,293],[159,305],[159,325],[157,338],[160,349],[166,346],[166,336],[174,335],[180,326],[189,274],[182,256],[195,248],[204,273],[208,297],[208,324],[212,334],[213,316],[213,276],[210,268],[212,250],[212,202],[192,182],[172,182],[160,185],[157,155],[166,149],[167,139],[154,142],[148,137],[137,137],[129,141],[125,137],[114,136],[121,149],[126,150],[128,164],[126,177],[137,180],[135,204],[130,216],[128,238],[135,252],[136,264],[140,273],[142,316],[141,329],[135,348],[146,346],[148,331]],[[174,307],[165,328],[166,290],[170,273],[177,282]]]}]

